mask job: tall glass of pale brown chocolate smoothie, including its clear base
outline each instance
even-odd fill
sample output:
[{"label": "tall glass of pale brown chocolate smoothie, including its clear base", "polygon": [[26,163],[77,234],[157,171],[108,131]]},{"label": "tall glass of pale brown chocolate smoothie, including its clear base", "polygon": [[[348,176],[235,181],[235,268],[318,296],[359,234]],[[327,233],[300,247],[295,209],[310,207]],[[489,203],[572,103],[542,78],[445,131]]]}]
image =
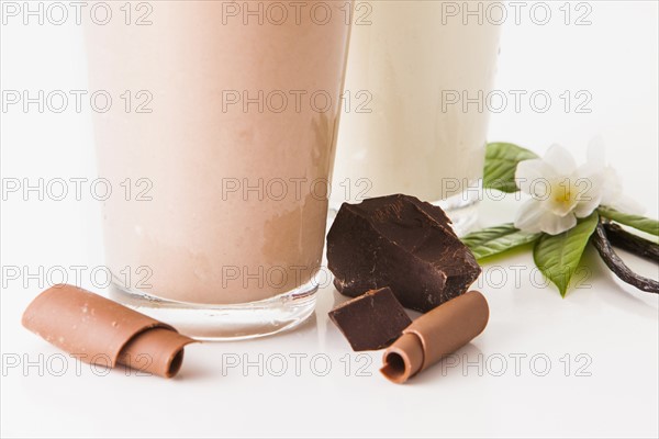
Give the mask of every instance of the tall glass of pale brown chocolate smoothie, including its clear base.
[{"label": "tall glass of pale brown chocolate smoothie, including its clear base", "polygon": [[94,115],[113,299],[203,339],[295,326],[315,305],[345,2],[157,1],[131,24],[120,7],[86,26],[90,89],[114,102]]}]

